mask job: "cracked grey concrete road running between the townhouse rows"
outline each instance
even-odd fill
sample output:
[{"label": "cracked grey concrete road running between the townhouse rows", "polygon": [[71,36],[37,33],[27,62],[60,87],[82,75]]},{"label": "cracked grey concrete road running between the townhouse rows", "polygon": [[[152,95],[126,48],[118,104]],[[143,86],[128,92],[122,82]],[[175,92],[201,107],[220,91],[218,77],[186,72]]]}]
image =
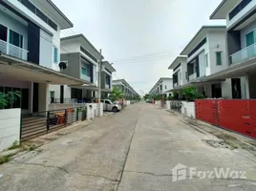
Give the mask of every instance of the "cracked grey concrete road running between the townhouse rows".
[{"label": "cracked grey concrete road running between the townhouse rows", "polygon": [[[255,156],[218,142],[138,103],[0,166],[0,190],[256,190]],[[214,168],[234,172],[205,179]]]}]

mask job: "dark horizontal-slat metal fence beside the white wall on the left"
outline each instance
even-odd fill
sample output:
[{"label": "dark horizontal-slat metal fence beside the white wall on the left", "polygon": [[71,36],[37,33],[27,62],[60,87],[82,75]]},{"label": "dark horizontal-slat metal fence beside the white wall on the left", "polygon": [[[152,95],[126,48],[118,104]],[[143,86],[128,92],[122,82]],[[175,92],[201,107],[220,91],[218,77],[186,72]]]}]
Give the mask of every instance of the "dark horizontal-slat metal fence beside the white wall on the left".
[{"label": "dark horizontal-slat metal fence beside the white wall on the left", "polygon": [[21,115],[21,141],[36,138],[55,130],[86,120],[86,106]]}]

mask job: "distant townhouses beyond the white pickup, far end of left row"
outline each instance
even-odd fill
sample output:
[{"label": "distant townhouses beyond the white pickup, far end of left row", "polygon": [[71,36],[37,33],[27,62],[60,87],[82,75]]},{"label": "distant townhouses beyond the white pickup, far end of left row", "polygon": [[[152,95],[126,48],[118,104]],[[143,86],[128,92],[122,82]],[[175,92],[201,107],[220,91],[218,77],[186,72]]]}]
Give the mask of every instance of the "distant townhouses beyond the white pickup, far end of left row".
[{"label": "distant townhouses beyond the white pickup, far end of left row", "polygon": [[112,81],[113,87],[117,87],[118,90],[121,90],[125,99],[134,99],[139,94],[132,88],[132,86],[125,79],[116,79]]}]

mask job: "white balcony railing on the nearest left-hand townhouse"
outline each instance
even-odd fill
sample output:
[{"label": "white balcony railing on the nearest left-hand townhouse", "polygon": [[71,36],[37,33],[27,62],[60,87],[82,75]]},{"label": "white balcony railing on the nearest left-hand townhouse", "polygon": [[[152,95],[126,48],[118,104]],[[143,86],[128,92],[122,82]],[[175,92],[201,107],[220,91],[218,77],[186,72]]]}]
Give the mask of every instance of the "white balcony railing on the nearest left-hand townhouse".
[{"label": "white balcony railing on the nearest left-hand townhouse", "polygon": [[14,46],[6,41],[0,40],[0,52],[9,54],[19,59],[28,60],[28,51]]}]

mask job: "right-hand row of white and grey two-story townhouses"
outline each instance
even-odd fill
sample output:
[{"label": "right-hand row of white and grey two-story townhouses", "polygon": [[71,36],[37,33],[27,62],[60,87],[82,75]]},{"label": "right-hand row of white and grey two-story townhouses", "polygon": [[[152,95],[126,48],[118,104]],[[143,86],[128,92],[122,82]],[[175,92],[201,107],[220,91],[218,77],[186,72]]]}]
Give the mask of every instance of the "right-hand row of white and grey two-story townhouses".
[{"label": "right-hand row of white and grey two-story townhouses", "polygon": [[256,0],[224,0],[210,19],[226,26],[203,26],[169,66],[173,87],[156,90],[158,82],[150,94],[194,86],[209,98],[256,98],[255,15]]}]

